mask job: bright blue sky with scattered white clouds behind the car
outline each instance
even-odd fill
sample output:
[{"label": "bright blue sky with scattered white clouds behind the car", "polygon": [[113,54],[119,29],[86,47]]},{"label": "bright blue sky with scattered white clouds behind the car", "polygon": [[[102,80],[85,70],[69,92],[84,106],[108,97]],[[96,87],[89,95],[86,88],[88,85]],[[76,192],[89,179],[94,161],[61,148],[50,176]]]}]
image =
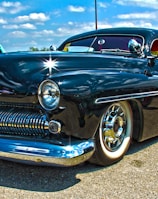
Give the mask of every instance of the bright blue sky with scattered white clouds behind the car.
[{"label": "bright blue sky with scattered white clouds behind the car", "polygon": [[[6,51],[58,46],[95,29],[94,0],[0,1],[0,44]],[[158,29],[158,0],[97,0],[98,28]]]}]

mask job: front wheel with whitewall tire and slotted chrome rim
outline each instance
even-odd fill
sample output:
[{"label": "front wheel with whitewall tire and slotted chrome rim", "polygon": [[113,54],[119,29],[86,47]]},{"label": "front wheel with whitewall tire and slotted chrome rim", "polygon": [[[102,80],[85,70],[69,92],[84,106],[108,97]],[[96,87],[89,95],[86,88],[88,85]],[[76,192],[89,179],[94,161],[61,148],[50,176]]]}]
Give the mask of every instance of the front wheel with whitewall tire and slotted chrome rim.
[{"label": "front wheel with whitewall tire and slotted chrome rim", "polygon": [[122,159],[131,142],[132,127],[133,116],[128,102],[109,105],[95,135],[96,150],[90,162],[106,166]]}]

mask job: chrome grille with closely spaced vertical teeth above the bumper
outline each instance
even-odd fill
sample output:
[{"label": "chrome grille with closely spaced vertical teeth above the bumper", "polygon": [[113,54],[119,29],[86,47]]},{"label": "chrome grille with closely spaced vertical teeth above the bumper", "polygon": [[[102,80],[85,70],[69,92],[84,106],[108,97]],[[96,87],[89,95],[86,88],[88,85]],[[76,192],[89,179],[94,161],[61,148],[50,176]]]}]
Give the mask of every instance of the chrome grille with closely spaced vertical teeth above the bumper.
[{"label": "chrome grille with closely spaced vertical teeth above the bumper", "polygon": [[3,108],[0,110],[0,133],[45,136],[49,134],[49,122],[47,117],[39,112]]}]

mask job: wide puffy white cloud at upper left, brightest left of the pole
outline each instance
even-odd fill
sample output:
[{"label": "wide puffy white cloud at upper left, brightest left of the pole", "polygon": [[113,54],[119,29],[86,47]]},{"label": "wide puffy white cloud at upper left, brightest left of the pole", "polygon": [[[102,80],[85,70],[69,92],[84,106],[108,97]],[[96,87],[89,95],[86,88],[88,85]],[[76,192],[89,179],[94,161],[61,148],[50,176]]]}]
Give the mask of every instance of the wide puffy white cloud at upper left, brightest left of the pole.
[{"label": "wide puffy white cloud at upper left, brightest left of the pole", "polygon": [[49,16],[44,13],[30,13],[29,15],[18,16],[15,18],[15,22],[27,22],[27,21],[40,21],[44,22],[49,20]]}]

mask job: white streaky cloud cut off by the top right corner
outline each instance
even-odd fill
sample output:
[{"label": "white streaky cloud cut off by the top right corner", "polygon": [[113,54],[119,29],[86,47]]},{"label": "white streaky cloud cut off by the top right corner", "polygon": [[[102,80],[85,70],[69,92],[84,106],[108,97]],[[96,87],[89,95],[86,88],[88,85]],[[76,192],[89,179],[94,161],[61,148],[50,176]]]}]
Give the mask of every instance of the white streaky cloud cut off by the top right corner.
[{"label": "white streaky cloud cut off by the top right corner", "polygon": [[113,0],[113,3],[123,6],[139,6],[158,9],[158,0]]}]

